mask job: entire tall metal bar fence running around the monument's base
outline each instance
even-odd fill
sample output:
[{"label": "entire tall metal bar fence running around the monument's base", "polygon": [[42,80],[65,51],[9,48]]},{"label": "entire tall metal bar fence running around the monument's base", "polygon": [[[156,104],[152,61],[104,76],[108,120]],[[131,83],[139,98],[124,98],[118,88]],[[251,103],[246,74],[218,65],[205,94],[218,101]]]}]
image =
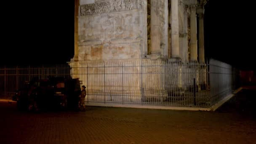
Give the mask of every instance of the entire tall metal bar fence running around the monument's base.
[{"label": "entire tall metal bar fence running around the monument's base", "polygon": [[86,102],[211,107],[235,88],[232,67],[163,60],[83,61],[42,67],[0,68],[0,97],[9,99],[32,77],[79,78]]}]

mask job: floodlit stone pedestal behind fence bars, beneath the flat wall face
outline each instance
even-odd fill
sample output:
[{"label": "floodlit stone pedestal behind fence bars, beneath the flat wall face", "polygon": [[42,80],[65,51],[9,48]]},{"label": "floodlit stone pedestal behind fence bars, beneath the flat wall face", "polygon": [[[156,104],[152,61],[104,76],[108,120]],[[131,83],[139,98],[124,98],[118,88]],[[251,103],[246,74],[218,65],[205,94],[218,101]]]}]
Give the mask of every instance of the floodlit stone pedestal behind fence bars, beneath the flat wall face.
[{"label": "floodlit stone pedestal behind fence bars, beneath the flat wall face", "polygon": [[87,87],[85,101],[134,104],[167,99],[163,64],[161,59],[69,63],[72,78]]}]

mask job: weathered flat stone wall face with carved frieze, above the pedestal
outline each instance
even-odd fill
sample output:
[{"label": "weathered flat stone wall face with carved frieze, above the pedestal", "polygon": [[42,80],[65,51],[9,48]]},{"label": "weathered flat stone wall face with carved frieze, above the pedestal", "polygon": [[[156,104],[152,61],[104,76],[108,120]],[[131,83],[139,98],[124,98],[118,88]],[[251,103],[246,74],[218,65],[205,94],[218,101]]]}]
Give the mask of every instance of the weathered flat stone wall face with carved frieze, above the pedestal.
[{"label": "weathered flat stone wall face with carved frieze, above the pedestal", "polygon": [[81,5],[79,61],[140,58],[144,44],[141,2],[104,0]]}]

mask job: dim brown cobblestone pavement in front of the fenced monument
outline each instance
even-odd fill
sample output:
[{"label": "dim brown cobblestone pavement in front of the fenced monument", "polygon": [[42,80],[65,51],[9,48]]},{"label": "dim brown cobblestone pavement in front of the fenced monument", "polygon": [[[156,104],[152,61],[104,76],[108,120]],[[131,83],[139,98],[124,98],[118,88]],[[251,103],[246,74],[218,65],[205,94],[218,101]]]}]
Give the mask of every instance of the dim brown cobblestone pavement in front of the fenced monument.
[{"label": "dim brown cobblestone pavement in front of the fenced monument", "polygon": [[87,107],[35,114],[0,103],[0,144],[256,144],[256,109],[244,109],[243,91],[215,112]]}]

